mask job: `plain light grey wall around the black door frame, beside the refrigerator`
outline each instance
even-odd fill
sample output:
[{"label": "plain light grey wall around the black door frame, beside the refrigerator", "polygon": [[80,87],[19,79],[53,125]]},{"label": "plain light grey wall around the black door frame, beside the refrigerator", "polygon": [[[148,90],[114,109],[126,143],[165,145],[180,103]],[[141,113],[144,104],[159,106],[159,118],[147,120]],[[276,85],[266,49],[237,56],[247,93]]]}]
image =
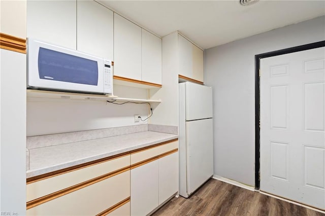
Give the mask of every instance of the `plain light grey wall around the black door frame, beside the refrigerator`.
[{"label": "plain light grey wall around the black door frame, beside the refrigerator", "polygon": [[325,40],[325,16],[205,50],[214,95],[214,174],[254,186],[254,55]]}]

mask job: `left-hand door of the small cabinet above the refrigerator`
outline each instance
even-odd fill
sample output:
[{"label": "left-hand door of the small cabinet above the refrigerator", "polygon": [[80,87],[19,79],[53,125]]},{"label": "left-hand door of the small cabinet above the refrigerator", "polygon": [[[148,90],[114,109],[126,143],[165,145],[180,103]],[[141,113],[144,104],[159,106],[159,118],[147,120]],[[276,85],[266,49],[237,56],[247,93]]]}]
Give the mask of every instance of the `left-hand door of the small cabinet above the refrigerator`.
[{"label": "left-hand door of the small cabinet above the refrigerator", "polygon": [[[178,35],[179,74],[192,78],[192,43]],[[193,78],[192,78],[193,79]]]}]

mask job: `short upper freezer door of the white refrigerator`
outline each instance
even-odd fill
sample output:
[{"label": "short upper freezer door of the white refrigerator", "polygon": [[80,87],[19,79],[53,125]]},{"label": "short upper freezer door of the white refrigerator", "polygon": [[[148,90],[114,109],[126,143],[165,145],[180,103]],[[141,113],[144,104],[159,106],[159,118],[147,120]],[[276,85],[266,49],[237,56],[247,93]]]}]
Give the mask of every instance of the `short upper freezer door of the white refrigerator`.
[{"label": "short upper freezer door of the white refrigerator", "polygon": [[185,83],[186,121],[212,118],[212,88]]}]

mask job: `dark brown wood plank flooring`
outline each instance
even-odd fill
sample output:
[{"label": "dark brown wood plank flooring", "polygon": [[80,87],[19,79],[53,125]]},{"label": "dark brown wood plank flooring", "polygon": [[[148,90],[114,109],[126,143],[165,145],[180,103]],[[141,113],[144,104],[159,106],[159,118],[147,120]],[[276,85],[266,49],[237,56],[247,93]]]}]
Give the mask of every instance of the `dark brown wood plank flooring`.
[{"label": "dark brown wood plank flooring", "polygon": [[174,197],[152,215],[325,216],[320,212],[212,178],[188,199]]}]

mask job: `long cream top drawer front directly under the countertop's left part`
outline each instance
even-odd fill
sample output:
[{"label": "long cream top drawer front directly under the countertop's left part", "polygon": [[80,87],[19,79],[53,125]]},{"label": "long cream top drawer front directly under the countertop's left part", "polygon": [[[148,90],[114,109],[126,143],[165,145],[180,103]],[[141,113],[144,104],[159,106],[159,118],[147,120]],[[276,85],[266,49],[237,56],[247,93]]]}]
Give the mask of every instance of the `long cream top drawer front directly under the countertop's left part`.
[{"label": "long cream top drawer front directly under the countertop's left part", "polygon": [[27,184],[27,202],[129,166],[126,155]]}]

